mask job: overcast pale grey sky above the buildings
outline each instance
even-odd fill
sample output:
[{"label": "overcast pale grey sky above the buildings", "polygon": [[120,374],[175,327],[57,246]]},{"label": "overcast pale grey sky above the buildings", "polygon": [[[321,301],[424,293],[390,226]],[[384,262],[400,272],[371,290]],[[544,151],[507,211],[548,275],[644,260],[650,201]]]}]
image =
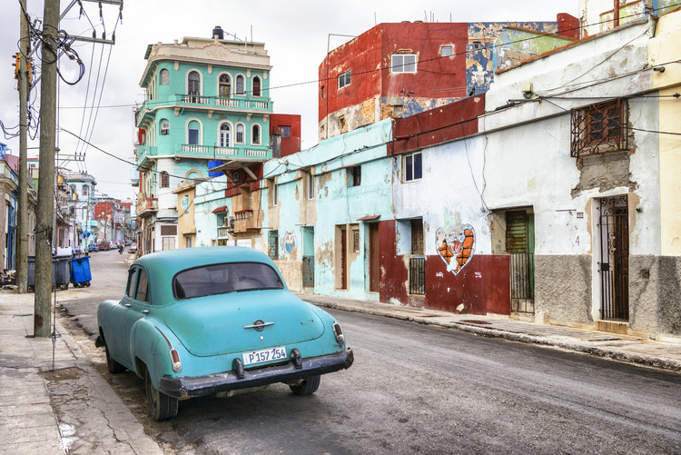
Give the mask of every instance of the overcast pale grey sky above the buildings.
[{"label": "overcast pale grey sky above the buildings", "polygon": [[[11,55],[18,50],[19,0],[3,3],[0,55],[5,69],[0,73],[0,121],[5,128],[11,128],[18,124],[19,110],[14,66],[11,66],[14,61]],[[62,0],[61,10],[70,3],[71,0]],[[274,112],[301,114],[302,148],[307,149],[317,143],[319,64],[329,43],[333,49],[350,39],[330,34],[360,35],[376,24],[416,20],[440,23],[555,21],[558,13],[577,16],[577,3],[578,0],[488,0],[483,4],[468,0],[346,0],[336,4],[318,0],[124,0],[123,22],[117,25],[118,7],[103,5],[103,27],[98,5],[83,0],[88,15],[79,17],[79,7],[75,5],[60,28],[70,35],[89,36],[94,25],[98,36],[105,28],[109,38],[115,26],[116,44],[74,45],[86,72],[74,86],[59,85],[59,125],[81,137],[86,137],[88,132],[91,143],[123,161],[92,146],[84,148],[64,132],[58,134],[58,146],[64,154],[84,152],[84,163],[65,166],[91,173],[98,182],[99,193],[123,200],[133,198],[130,178],[134,166],[124,161],[133,162],[133,106],[143,101],[139,81],[146,64],[143,58],[146,47],[158,41],[173,43],[174,39],[182,40],[184,36],[210,37],[215,25],[222,26],[226,34],[249,40],[252,36],[253,41],[265,44],[273,66],[270,84]],[[42,0],[28,0],[29,15],[42,18],[43,5]],[[77,78],[77,66],[73,62],[63,57],[60,65],[65,79]],[[39,96],[39,87],[34,91],[32,99]],[[36,99],[36,110],[39,105]],[[85,105],[99,105],[99,109],[84,109]],[[9,145],[13,154],[19,154],[18,138],[0,136],[0,142]],[[37,140],[29,142],[29,147],[37,146]],[[37,156],[37,150],[29,150],[28,155]]]}]

